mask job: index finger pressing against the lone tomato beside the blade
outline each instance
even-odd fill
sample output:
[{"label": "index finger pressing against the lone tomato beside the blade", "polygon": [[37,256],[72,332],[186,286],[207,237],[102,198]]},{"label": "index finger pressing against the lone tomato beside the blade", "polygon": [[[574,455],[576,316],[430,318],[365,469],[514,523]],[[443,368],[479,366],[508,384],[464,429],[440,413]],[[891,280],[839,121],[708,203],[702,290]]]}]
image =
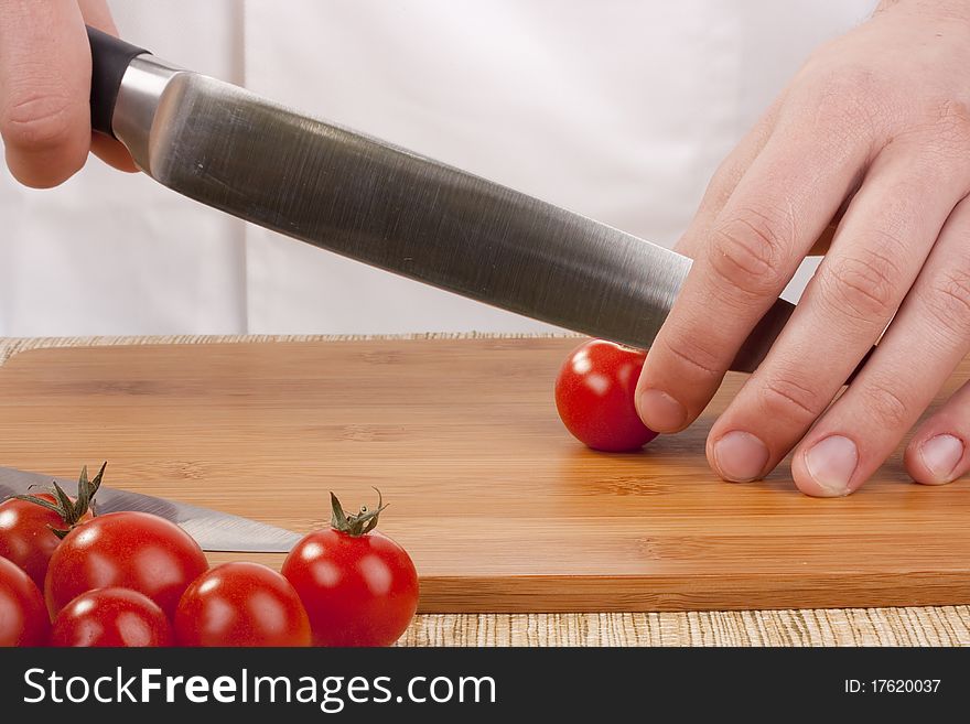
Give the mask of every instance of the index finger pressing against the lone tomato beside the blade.
[{"label": "index finger pressing against the lone tomato beside the blade", "polygon": [[830,130],[779,121],[707,230],[637,386],[651,430],[697,419],[852,187],[869,149]]}]

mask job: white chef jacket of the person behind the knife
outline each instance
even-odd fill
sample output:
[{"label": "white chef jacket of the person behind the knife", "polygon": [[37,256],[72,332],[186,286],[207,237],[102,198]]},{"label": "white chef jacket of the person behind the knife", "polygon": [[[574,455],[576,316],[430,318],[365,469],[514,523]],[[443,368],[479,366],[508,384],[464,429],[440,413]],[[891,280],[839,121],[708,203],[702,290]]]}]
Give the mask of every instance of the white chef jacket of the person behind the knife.
[{"label": "white chef jacket of the person behind the knife", "polygon": [[[122,35],[671,246],[808,53],[875,0],[116,0]],[[543,325],[233,219],[93,159],[0,171],[0,336]]]}]

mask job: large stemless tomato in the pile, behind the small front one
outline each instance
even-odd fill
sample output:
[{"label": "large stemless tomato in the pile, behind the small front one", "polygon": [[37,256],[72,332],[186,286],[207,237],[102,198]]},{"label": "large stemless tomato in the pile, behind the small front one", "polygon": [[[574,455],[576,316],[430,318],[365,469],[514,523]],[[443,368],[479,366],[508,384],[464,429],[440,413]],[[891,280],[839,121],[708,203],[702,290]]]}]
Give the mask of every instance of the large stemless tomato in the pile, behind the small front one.
[{"label": "large stemless tomato in the pile, behind the small front one", "polygon": [[44,597],[52,616],[82,593],[120,587],[143,593],[171,618],[208,563],[192,537],[147,512],[109,512],[67,533],[51,556]]}]

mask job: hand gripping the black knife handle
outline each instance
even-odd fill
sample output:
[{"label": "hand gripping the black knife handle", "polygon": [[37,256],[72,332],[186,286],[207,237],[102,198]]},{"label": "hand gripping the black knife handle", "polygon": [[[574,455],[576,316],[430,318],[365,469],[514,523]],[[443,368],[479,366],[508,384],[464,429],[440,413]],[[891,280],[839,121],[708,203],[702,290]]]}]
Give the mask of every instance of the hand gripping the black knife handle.
[{"label": "hand gripping the black knife handle", "polygon": [[66,181],[88,151],[137,171],[121,143],[91,134],[85,23],[118,34],[105,0],[0,0],[0,136],[10,172],[28,186]]}]

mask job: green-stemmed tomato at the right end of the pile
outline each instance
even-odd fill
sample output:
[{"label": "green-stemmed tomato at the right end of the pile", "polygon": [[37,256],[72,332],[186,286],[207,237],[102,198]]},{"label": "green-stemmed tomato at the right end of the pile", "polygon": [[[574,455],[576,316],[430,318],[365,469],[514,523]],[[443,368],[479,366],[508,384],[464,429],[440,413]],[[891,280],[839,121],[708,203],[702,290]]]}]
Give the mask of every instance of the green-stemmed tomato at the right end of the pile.
[{"label": "green-stemmed tomato at the right end of the pile", "polygon": [[315,646],[390,646],[418,608],[414,564],[403,548],[373,529],[380,504],[375,511],[344,516],[333,495],[332,501],[336,528],[298,542],[282,573],[306,608]]}]

